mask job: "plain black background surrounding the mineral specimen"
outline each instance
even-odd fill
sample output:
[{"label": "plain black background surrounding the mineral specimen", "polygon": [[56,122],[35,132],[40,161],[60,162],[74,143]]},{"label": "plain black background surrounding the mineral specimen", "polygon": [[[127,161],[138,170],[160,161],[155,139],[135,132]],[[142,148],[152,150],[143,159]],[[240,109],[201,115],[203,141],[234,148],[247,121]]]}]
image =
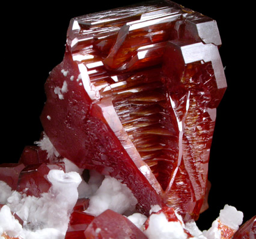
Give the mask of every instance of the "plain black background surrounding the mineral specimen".
[{"label": "plain black background surrounding the mineral specimen", "polygon": [[[1,13],[1,161],[17,162],[23,147],[38,140],[39,116],[46,100],[44,81],[61,62],[72,17],[138,1],[70,1],[54,5],[8,2]],[[212,17],[222,38],[220,54],[228,88],[218,108],[209,179],[210,208],[201,214],[200,229],[208,229],[225,204],[255,210],[255,54],[253,13],[249,5],[225,1],[177,3]]]}]

